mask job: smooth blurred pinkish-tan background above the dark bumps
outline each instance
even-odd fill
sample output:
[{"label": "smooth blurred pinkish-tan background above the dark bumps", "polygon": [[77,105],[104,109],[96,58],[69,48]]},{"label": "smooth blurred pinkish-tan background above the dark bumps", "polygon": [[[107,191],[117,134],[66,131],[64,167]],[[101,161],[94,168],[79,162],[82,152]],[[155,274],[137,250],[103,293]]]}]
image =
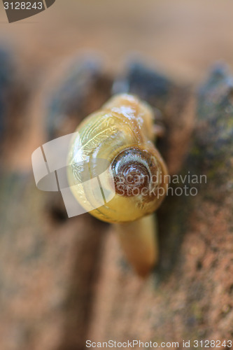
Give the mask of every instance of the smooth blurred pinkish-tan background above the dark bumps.
[{"label": "smooth blurred pinkish-tan background above the dark bumps", "polygon": [[219,60],[232,66],[232,6],[215,0],[57,0],[36,17],[9,25],[1,4],[0,38],[13,50],[30,91],[65,59],[83,52],[99,54],[114,73],[136,54],[167,76],[193,84]]}]

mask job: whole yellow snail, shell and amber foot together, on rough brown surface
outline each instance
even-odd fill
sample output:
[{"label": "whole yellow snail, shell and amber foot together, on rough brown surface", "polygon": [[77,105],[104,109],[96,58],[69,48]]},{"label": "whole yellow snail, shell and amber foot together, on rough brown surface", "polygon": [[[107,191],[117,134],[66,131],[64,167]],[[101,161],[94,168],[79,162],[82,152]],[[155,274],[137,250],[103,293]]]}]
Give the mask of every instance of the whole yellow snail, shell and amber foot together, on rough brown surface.
[{"label": "whole yellow snail, shell and amber foot together, on rough brown surface", "polygon": [[[90,214],[115,225],[128,262],[137,274],[146,276],[158,259],[153,213],[167,189],[167,167],[154,144],[153,110],[133,95],[118,94],[87,116],[76,132],[67,170],[73,196]],[[90,188],[83,186],[83,170],[78,167],[80,160],[97,159],[110,165],[102,192],[114,188],[114,195],[99,206]]]}]

